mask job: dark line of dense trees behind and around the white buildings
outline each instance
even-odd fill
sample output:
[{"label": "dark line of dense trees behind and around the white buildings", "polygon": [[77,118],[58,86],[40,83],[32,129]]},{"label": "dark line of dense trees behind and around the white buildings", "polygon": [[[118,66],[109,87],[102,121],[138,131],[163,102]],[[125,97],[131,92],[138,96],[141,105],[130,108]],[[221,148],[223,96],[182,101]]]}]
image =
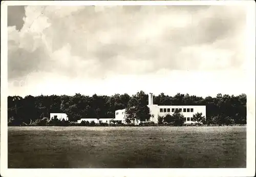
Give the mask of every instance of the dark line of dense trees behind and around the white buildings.
[{"label": "dark line of dense trees behind and around the white buildings", "polygon": [[[135,95],[115,94],[113,96],[86,96],[75,94],[50,96],[9,96],[8,124],[22,125],[38,120],[50,119],[50,113],[66,113],[69,122],[81,118],[115,118],[115,110],[126,109],[126,119],[141,121],[150,117],[148,95],[143,91]],[[246,124],[246,95],[222,95],[216,97],[198,97],[188,94],[168,96],[164,93],[154,96],[158,105],[206,105],[205,124]],[[135,114],[136,112],[136,114]]]}]

